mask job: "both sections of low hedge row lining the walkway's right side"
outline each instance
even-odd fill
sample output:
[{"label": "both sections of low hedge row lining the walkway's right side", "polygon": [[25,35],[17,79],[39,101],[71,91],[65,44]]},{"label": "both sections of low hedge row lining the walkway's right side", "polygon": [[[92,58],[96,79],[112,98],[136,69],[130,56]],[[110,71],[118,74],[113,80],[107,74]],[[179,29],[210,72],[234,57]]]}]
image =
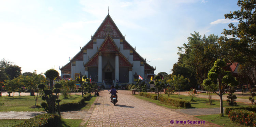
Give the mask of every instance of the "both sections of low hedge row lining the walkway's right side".
[{"label": "both sections of low hedge row lining the walkway's right side", "polygon": [[[145,96],[147,98],[151,98],[151,99],[157,100],[157,95],[155,95],[155,94],[140,92],[140,95],[141,96]],[[165,103],[167,105],[170,105],[170,106],[183,107],[183,108],[191,108],[190,102],[187,102],[187,101],[182,100],[182,99],[172,99],[172,98],[160,96],[159,97],[159,101],[163,102],[163,103]]]}]

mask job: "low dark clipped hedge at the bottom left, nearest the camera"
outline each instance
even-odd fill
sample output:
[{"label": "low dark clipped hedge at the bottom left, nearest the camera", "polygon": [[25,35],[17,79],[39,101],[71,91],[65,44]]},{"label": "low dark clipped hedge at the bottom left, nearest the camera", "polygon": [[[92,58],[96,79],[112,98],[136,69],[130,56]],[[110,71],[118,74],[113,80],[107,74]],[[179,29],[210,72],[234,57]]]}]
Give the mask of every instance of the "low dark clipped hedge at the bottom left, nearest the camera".
[{"label": "low dark clipped hedge at the bottom left, nearest the camera", "polygon": [[13,127],[54,127],[60,123],[60,117],[56,114],[40,114],[23,123],[14,125]]}]

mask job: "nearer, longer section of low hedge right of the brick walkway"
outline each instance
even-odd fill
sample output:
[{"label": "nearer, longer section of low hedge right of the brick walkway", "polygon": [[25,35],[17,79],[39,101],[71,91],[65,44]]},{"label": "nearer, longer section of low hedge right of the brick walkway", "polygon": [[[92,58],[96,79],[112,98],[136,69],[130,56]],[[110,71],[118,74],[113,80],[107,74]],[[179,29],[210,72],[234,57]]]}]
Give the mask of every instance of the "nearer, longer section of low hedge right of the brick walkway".
[{"label": "nearer, longer section of low hedge right of the brick walkway", "polygon": [[167,105],[170,106],[175,106],[175,107],[183,107],[183,108],[191,108],[190,102],[187,102],[182,99],[173,99],[173,98],[168,98],[168,97],[159,97],[159,101],[163,102]]}]

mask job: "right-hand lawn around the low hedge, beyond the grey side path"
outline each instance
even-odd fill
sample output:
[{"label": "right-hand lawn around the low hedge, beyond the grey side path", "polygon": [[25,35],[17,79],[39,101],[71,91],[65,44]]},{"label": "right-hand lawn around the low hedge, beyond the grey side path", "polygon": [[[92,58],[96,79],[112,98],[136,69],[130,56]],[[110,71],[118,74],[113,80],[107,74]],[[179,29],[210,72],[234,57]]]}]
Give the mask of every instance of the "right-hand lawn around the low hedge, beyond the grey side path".
[{"label": "right-hand lawn around the low hedge, beyond the grey side path", "polygon": [[[146,97],[143,97],[143,96],[140,96],[140,95],[135,95],[136,97],[138,98],[141,98],[141,99],[144,99],[146,101],[150,101],[150,102],[153,102],[157,105],[161,105],[161,106],[164,106],[165,104],[161,104],[162,102],[160,101],[157,101],[157,100],[151,100],[150,98],[146,98]],[[167,94],[159,94],[159,96],[165,96],[165,97],[168,97]],[[170,98],[176,98],[178,99],[179,98],[179,95],[177,94],[171,94],[169,96]],[[186,95],[180,95],[180,98],[186,100],[186,101],[190,101],[191,97],[190,96],[186,96]],[[199,98],[199,97],[194,97],[193,98],[196,102],[190,102],[191,103],[191,106],[192,108],[216,108],[216,107],[220,107],[220,103],[219,103],[219,100],[215,100],[215,99],[212,99],[212,103],[214,105],[209,105],[209,100],[208,98]],[[249,103],[238,103],[239,106],[248,106],[250,105]],[[226,101],[226,99],[223,100],[223,106],[224,107],[230,107],[228,106],[228,103]],[[166,107],[166,106],[165,106]],[[177,107],[171,107],[169,106],[169,108],[174,108],[174,109],[177,109]]]}]

